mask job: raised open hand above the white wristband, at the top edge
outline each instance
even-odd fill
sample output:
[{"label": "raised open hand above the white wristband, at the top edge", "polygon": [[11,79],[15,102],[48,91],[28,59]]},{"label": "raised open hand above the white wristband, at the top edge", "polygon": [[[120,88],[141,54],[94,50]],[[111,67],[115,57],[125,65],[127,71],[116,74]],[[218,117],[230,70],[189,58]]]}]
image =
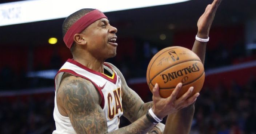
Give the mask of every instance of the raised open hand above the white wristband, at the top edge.
[{"label": "raised open hand above the white wristband, at the top edge", "polygon": [[199,38],[207,38],[209,36],[212,21],[221,1],[222,0],[214,0],[212,4],[207,5],[203,15],[197,21],[197,36]]}]

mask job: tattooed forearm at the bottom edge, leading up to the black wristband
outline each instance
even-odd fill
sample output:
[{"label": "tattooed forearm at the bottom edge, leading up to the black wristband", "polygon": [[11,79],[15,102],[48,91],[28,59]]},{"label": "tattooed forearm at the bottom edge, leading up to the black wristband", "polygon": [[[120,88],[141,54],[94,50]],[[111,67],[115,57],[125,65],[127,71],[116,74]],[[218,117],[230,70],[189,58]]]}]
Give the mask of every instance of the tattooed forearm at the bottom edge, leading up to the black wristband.
[{"label": "tattooed forearm at the bottom edge, leading up to the black wristband", "polygon": [[130,125],[117,129],[108,134],[145,134],[154,126],[155,125],[149,121],[146,115],[143,115]]}]

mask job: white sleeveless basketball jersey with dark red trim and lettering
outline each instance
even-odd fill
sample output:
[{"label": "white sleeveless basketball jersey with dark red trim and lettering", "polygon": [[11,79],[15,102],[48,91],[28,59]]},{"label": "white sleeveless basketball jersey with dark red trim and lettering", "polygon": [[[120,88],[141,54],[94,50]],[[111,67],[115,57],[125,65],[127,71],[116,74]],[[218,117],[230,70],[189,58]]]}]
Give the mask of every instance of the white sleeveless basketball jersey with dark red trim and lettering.
[{"label": "white sleeveless basketball jersey with dark red trim and lettering", "polygon": [[55,76],[55,107],[53,111],[53,118],[55,120],[56,130],[53,131],[53,134],[76,134],[69,117],[64,117],[59,113],[56,102],[56,93],[60,86],[61,77],[64,73],[70,73],[73,76],[91,81],[101,96],[100,106],[105,113],[108,132],[119,128],[119,118],[123,115],[123,93],[121,90],[121,80],[115,70],[113,70],[109,65],[104,63],[104,68],[110,73],[112,72],[112,77],[89,69],[72,59],[68,59],[60,68],[59,72]]}]

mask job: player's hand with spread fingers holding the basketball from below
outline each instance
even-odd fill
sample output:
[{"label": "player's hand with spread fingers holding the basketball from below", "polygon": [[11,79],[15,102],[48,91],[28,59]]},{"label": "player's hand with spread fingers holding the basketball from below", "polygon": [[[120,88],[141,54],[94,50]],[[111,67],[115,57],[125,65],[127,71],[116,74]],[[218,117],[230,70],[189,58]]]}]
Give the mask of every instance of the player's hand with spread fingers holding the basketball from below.
[{"label": "player's hand with spread fingers holding the basketball from below", "polygon": [[187,107],[196,101],[196,98],[199,96],[199,93],[196,93],[193,96],[191,96],[191,93],[193,92],[193,87],[190,87],[185,94],[183,94],[180,98],[177,98],[177,95],[181,87],[181,83],[177,84],[171,96],[169,96],[168,98],[162,98],[159,94],[159,85],[155,85],[155,87],[153,88],[152,110],[157,117],[164,118],[166,115],[178,111],[184,107]]}]

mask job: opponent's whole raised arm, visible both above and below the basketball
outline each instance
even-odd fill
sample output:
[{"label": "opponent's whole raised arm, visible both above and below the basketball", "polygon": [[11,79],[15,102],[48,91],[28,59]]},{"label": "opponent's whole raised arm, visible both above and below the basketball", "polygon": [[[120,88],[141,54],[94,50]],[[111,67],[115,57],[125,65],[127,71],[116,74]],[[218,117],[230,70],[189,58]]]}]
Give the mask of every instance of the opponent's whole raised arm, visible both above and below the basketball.
[{"label": "opponent's whole raised arm, visible both above and below the basketball", "polygon": [[[199,56],[203,64],[207,38],[209,37],[212,21],[220,2],[221,0],[214,0],[212,4],[207,5],[205,12],[197,21],[198,38],[195,40],[192,51]],[[188,134],[191,129],[194,111],[195,106],[190,105],[178,112],[169,114],[165,124],[164,134]]]}]

